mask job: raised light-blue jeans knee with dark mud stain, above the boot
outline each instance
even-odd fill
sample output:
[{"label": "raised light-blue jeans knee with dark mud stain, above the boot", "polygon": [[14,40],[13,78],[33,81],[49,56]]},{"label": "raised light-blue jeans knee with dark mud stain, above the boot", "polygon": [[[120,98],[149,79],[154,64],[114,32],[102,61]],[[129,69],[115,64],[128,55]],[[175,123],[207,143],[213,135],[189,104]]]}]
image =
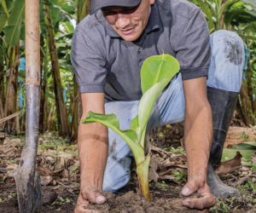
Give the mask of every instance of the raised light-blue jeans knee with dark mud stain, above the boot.
[{"label": "raised light-blue jeans knee with dark mud stain, above the boot", "polygon": [[212,33],[212,58],[207,85],[237,92],[240,90],[245,64],[244,43],[236,32],[220,30]]}]

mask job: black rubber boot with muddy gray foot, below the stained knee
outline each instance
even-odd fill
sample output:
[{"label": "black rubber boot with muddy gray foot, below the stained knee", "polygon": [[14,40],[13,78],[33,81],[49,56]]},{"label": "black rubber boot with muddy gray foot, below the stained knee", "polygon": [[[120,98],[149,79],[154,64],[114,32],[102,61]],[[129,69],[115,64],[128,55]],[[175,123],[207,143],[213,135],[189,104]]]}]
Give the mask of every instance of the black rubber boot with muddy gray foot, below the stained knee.
[{"label": "black rubber boot with muddy gray foot, below the stained knee", "polygon": [[212,194],[218,198],[240,197],[236,188],[221,181],[214,169],[218,167],[223,153],[224,141],[236,108],[239,93],[207,87],[208,101],[212,107],[213,141],[209,159],[207,182]]}]

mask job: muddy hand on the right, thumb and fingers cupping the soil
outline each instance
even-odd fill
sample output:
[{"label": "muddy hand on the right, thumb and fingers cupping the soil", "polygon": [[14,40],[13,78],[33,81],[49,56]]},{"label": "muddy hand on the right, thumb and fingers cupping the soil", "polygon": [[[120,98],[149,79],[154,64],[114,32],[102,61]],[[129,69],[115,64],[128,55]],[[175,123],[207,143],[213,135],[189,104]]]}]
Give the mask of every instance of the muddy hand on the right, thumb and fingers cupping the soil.
[{"label": "muddy hand on the right, thumb and fingers cupping the soil", "polygon": [[183,205],[189,207],[189,209],[204,210],[211,208],[215,204],[215,199],[210,192],[207,181],[202,176],[191,177],[183,187],[183,196],[189,196],[192,193],[199,193],[201,197],[183,200]]}]

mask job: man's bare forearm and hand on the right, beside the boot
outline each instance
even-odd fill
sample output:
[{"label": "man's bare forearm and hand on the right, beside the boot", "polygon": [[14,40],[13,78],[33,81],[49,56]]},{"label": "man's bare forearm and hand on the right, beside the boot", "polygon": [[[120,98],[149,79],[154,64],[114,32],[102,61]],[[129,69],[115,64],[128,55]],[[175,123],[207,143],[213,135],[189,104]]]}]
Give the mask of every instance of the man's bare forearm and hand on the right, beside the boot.
[{"label": "man's bare forearm and hand on the right, beside the boot", "polygon": [[186,101],[184,142],[188,159],[188,183],[183,195],[200,193],[200,199],[186,199],[189,208],[205,209],[215,204],[207,186],[207,164],[212,145],[212,111],[207,100],[206,78],[183,81]]}]

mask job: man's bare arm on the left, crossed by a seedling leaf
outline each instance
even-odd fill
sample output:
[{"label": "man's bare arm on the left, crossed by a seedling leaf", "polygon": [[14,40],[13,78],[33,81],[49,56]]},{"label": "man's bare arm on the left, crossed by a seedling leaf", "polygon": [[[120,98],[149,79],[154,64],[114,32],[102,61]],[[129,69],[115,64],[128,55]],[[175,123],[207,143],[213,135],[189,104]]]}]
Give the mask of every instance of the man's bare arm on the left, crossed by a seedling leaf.
[{"label": "man's bare arm on the left, crossed by a seedling leaf", "polygon": [[[103,93],[84,93],[81,95],[83,114],[104,113]],[[102,124],[79,124],[79,162],[80,162],[80,193],[75,209],[76,213],[86,212],[90,203],[102,204],[102,181],[108,158],[108,129]],[[85,207],[85,208],[84,208]]]}]

